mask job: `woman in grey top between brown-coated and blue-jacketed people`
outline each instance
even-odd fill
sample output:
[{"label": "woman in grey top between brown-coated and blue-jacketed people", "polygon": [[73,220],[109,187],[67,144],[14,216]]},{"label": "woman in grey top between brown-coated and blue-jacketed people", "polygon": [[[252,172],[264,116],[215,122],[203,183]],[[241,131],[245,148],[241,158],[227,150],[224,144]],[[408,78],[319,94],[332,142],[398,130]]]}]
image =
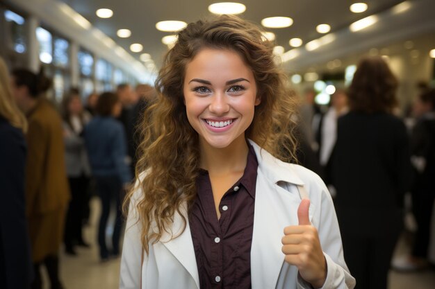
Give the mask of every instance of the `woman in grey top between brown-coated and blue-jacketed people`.
[{"label": "woman in grey top between brown-coated and blue-jacketed people", "polygon": [[71,201],[65,221],[65,252],[76,255],[74,245],[89,247],[83,240],[82,219],[87,207],[90,165],[82,137],[83,128],[92,116],[81,104],[79,91],[70,91],[62,103],[65,162]]}]

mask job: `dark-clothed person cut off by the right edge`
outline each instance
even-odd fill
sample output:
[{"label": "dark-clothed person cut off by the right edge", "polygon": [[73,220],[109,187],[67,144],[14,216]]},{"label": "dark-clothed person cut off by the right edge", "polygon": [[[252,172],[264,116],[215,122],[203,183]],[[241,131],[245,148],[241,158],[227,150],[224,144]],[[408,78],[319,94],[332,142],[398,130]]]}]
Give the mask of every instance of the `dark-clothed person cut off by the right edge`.
[{"label": "dark-clothed person cut off by the right edge", "polygon": [[[393,261],[400,271],[421,270],[429,266],[428,251],[435,199],[435,89],[423,91],[413,105],[416,124],[411,132],[412,212],[417,222],[411,254]],[[432,225],[433,227],[434,225]]]}]

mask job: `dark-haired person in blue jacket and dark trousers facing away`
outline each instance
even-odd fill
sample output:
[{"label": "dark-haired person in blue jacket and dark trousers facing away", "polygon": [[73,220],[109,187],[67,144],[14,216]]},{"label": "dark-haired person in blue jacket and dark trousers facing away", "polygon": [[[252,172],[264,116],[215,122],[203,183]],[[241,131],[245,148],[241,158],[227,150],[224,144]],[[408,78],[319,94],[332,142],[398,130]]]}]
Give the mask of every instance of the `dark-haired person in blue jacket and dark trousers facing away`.
[{"label": "dark-haired person in blue jacket and dark trousers facing away", "polygon": [[[117,121],[121,103],[116,94],[105,92],[97,102],[97,116],[85,126],[85,146],[88,150],[92,174],[97,182],[101,200],[98,243],[101,261],[120,254],[120,232],[122,229],[122,200],[124,188],[131,181],[131,172],[126,165],[127,148],[122,123]],[[115,226],[112,249],[106,244],[106,227],[110,215],[110,204],[116,204]]]}]

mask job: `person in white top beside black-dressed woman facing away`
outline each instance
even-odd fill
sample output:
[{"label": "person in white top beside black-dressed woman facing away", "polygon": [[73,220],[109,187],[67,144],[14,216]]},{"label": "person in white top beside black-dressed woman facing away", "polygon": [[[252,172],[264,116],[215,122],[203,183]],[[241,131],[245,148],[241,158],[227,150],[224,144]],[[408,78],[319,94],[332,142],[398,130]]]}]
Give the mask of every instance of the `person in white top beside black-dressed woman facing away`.
[{"label": "person in white top beside black-dressed woman facing away", "polygon": [[[343,89],[337,89],[331,95],[331,106],[320,121],[319,135],[319,161],[325,171],[325,182],[331,184],[331,166],[330,159],[334,145],[337,139],[337,122],[340,116],[347,114],[347,95]],[[329,191],[333,193],[335,189],[329,187]]]}]

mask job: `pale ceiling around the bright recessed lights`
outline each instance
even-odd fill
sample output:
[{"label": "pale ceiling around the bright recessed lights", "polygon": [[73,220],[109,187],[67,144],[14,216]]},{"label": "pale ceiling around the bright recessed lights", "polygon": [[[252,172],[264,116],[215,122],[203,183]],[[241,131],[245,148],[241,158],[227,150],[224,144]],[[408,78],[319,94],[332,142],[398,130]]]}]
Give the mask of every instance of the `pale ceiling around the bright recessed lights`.
[{"label": "pale ceiling around the bright recessed lights", "polygon": [[[88,47],[98,46],[96,49],[101,56],[111,57],[113,61],[124,61],[123,58],[114,53],[113,49],[108,48],[110,45],[104,46],[94,42],[91,38],[95,36],[90,33],[91,31],[74,25],[74,23],[69,23],[71,21],[67,21],[60,5],[57,5],[57,3],[66,3],[67,6],[85,17],[93,27],[101,30],[117,45],[122,46],[125,51],[130,53],[131,56],[128,57],[130,60],[129,62],[124,61],[124,66],[128,67],[133,62],[139,62],[141,53],[149,53],[157,68],[161,64],[165,51],[167,51],[167,46],[161,42],[161,39],[170,33],[158,31],[155,27],[156,23],[163,20],[181,20],[189,23],[197,19],[204,19],[211,15],[208,12],[208,6],[217,2],[211,0],[6,1],[15,3],[21,8],[28,8],[28,12],[38,15],[43,24],[45,19],[47,26],[55,26],[52,28],[62,30],[61,32],[65,34],[65,37],[85,42],[82,44]],[[284,46],[286,51],[290,49],[288,44],[290,38],[302,38],[306,44],[322,37],[320,33],[315,31],[315,26],[323,23],[331,26],[329,35],[334,35],[334,42],[315,51],[306,51],[303,47],[294,49],[293,51],[297,50],[299,56],[284,63],[284,68],[288,72],[304,71],[310,67],[325,67],[327,62],[336,58],[344,60],[350,55],[358,57],[362,53],[367,53],[371,48],[381,48],[402,40],[412,40],[413,37],[421,35],[427,35],[429,42],[432,42],[435,48],[434,0],[408,0],[406,2],[409,4],[409,9],[402,13],[394,12],[393,7],[402,3],[403,0],[366,0],[368,10],[359,14],[350,12],[350,4],[356,2],[352,0],[243,0],[239,2],[247,6],[247,10],[241,16],[258,25],[265,17],[287,16],[293,18],[294,23],[288,28],[265,28],[265,30],[270,30],[277,35],[277,45]],[[110,8],[113,10],[113,17],[109,19],[97,17],[95,11],[99,8]],[[349,30],[348,27],[352,22],[369,15],[377,15],[379,21],[358,33],[352,33]],[[120,28],[130,29],[131,37],[126,39],[117,37],[116,31]],[[133,43],[142,44],[144,50],[140,53],[131,52],[129,46]],[[122,65],[122,63],[120,64]]]}]

